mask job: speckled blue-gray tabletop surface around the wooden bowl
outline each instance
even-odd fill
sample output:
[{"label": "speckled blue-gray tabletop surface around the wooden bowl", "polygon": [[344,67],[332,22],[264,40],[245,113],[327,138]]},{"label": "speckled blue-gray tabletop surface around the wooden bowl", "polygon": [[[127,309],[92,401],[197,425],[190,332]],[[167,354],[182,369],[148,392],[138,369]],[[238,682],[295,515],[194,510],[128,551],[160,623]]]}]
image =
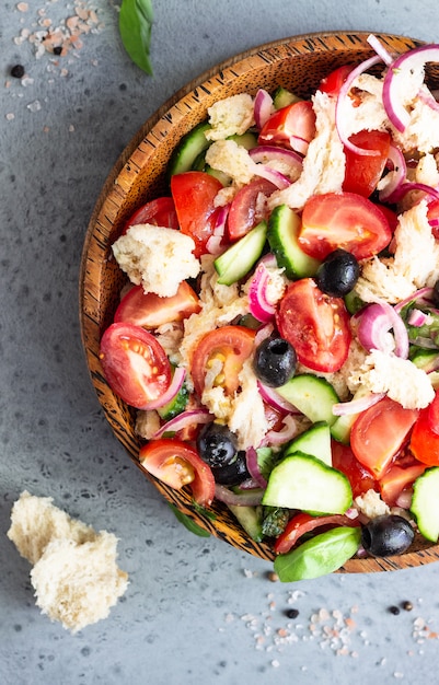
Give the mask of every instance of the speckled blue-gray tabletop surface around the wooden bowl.
[{"label": "speckled blue-gray tabletop surface around the wooden bowl", "polygon": [[[188,685],[435,683],[439,565],[273,583],[270,566],[188,533],[113,438],[92,390],[78,324],[89,217],[118,154],[169,96],[258,44],[320,30],[439,40],[436,0],[155,0],[154,77],[132,66],[116,4],[54,65],[28,40],[38,10],[1,3],[0,45],[0,683]],[[21,62],[27,79],[11,80]],[[27,488],[119,537],[130,585],[105,622],[76,636],[35,607],[30,566],[5,532]],[[411,612],[390,605],[412,601]],[[285,615],[299,609],[294,619]],[[424,628],[424,629],[421,629]]]}]

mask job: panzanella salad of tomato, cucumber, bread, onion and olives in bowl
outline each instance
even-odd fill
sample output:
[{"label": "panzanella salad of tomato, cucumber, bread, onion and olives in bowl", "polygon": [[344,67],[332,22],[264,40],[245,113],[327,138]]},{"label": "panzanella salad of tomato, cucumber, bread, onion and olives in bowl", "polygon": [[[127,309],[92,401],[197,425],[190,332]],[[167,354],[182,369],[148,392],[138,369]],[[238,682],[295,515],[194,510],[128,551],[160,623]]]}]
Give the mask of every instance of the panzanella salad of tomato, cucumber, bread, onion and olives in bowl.
[{"label": "panzanella salad of tomato, cucumber, bread, onion and olives in bowl", "polygon": [[113,244],[139,460],[284,581],[439,536],[439,46],[217,102]]}]

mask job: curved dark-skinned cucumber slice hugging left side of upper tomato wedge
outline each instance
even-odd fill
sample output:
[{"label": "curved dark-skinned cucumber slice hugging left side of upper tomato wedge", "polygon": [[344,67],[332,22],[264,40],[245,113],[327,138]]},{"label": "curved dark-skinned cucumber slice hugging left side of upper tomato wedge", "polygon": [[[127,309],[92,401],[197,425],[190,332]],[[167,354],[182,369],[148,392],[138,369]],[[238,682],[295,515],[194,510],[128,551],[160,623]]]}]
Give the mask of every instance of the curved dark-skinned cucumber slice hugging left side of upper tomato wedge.
[{"label": "curved dark-skinned cucumber slice hugging left side of upper tomato wedge", "polygon": [[273,210],[268,222],[268,243],[280,268],[290,280],[315,276],[321,262],[309,257],[299,245],[300,218],[288,205]]}]

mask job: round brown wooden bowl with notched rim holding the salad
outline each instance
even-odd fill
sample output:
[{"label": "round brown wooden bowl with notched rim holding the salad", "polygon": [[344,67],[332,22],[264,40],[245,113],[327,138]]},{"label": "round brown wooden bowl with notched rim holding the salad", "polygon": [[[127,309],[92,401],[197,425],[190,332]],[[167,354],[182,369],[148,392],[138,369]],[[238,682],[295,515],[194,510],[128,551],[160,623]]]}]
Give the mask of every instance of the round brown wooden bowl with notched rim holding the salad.
[{"label": "round brown wooden bowl with notched rim holding the salad", "polygon": [[[390,53],[405,53],[421,42],[377,34]],[[149,476],[138,461],[139,440],[134,431],[134,411],[108,387],[102,373],[99,348],[104,329],[112,323],[125,276],[109,258],[111,245],[125,220],[141,204],[169,194],[165,167],[182,136],[206,119],[216,101],[236,93],[255,94],[258,88],[274,91],[282,85],[309,96],[320,79],[334,68],[358,63],[372,55],[368,33],[317,33],[276,40],[238,55],[187,84],[146,124],[112,170],[97,199],[85,235],[80,275],[81,335],[92,383],[109,425],[134,463],[178,510],[211,534],[256,557],[272,560],[268,545],[253,542],[226,506],[216,502],[215,519],[192,507],[189,492],[176,491]],[[427,72],[439,88],[438,72]],[[342,571],[370,572],[415,567],[439,558],[439,546],[417,537],[409,554],[382,559],[351,559]]]}]

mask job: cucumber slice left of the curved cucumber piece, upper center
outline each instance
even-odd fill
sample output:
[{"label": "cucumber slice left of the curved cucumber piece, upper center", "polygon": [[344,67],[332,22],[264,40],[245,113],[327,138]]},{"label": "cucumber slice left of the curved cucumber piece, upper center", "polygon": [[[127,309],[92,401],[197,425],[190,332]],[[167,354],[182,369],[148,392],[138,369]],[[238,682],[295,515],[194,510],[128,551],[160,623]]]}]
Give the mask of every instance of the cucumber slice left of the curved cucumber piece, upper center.
[{"label": "cucumber slice left of the curved cucumber piece, upper center", "polygon": [[267,224],[262,221],[217,257],[213,266],[219,275],[218,282],[231,286],[249,274],[262,255],[266,237]]}]

